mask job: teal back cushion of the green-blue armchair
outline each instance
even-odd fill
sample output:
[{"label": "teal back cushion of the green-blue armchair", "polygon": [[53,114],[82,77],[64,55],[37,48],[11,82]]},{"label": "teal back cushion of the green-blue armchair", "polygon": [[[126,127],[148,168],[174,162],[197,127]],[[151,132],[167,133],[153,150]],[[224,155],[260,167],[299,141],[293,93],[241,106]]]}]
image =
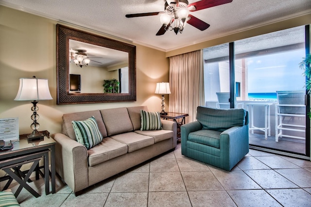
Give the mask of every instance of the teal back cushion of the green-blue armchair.
[{"label": "teal back cushion of the green-blue armchair", "polygon": [[245,115],[244,109],[212,109],[199,106],[196,119],[202,124],[203,129],[225,131],[230,127],[243,126]]}]

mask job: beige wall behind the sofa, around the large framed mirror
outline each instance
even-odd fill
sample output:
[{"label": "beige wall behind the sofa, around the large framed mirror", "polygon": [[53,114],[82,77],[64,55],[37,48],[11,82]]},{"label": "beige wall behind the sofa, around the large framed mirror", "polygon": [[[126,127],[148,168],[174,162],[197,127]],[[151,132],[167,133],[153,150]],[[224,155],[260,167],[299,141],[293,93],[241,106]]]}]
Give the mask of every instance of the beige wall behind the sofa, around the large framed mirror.
[{"label": "beige wall behind the sofa, around the large framed mirror", "polygon": [[169,60],[165,52],[140,45],[136,45],[136,102],[56,105],[57,23],[0,6],[0,118],[18,117],[19,133],[31,132],[32,104],[13,99],[18,91],[18,78],[33,76],[49,80],[53,97],[53,100],[38,103],[39,130],[60,132],[63,113],[75,111],[139,105],[147,105],[150,111],[160,111],[161,97],[154,94],[155,85],[169,80]]}]

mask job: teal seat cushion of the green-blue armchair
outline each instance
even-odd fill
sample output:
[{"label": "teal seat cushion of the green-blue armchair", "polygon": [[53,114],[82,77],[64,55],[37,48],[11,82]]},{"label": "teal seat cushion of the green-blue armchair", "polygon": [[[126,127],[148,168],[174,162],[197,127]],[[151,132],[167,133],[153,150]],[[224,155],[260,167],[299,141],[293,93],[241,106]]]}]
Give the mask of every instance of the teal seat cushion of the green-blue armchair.
[{"label": "teal seat cushion of the green-blue armchair", "polygon": [[219,148],[219,140],[221,131],[202,129],[199,131],[190,132],[188,140],[195,143],[201,143]]}]

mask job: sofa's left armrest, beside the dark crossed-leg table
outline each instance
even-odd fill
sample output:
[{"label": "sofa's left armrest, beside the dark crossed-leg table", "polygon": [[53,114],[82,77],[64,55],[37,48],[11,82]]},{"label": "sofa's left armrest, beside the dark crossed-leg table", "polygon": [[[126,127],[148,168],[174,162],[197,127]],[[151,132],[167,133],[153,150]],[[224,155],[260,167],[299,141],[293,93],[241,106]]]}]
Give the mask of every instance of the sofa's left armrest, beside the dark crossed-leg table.
[{"label": "sofa's left armrest, beside the dark crossed-leg table", "polygon": [[88,164],[86,147],[62,133],[52,135],[56,141],[56,172],[74,191],[81,191],[88,186]]}]

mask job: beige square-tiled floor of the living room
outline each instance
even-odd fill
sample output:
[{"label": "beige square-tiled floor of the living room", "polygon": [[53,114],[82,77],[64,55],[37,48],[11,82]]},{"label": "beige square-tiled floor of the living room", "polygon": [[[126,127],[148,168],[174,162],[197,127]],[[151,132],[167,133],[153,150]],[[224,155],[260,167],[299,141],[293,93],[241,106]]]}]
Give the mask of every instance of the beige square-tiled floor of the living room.
[{"label": "beige square-tiled floor of the living room", "polygon": [[178,143],[78,197],[59,178],[55,194],[45,195],[42,178],[31,186],[41,196],[23,189],[22,207],[310,207],[311,162],[250,150],[227,172],[182,156]]}]

